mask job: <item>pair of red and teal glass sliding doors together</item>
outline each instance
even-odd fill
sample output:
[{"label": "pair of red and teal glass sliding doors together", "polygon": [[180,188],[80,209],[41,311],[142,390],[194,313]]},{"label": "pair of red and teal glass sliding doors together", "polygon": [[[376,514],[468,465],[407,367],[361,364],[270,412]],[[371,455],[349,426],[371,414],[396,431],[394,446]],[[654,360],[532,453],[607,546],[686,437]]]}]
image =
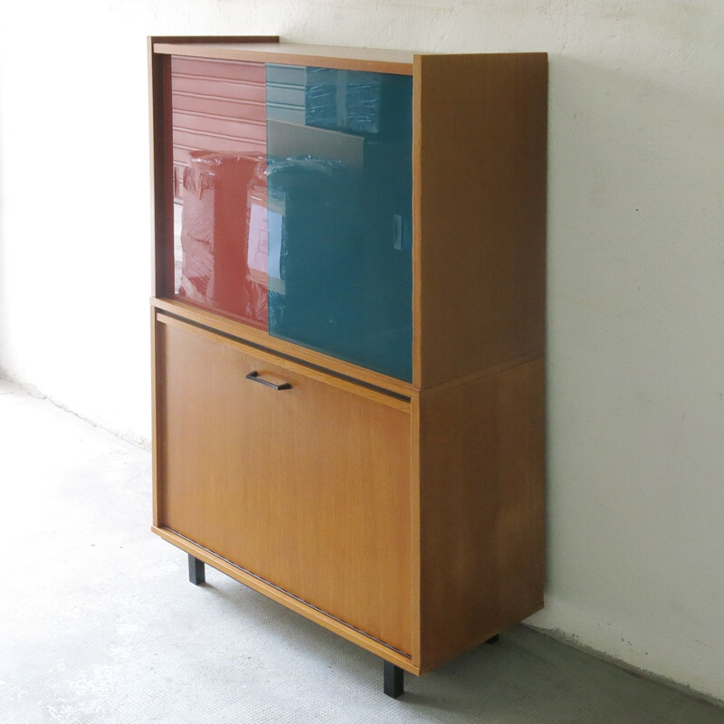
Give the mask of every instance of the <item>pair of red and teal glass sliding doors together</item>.
[{"label": "pair of red and teal glass sliding doors together", "polygon": [[412,78],[171,55],[170,105],[167,296],[411,381]]}]

